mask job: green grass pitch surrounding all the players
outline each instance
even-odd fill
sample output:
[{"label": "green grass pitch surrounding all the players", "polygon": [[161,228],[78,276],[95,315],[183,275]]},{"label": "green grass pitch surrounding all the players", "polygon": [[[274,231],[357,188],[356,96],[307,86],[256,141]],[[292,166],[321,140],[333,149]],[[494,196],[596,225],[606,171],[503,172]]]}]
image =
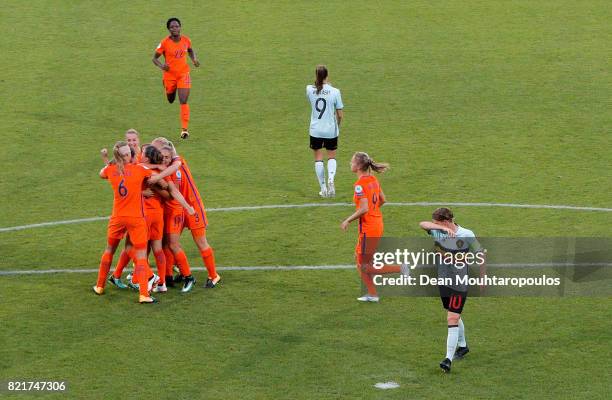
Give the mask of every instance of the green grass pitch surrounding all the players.
[{"label": "green grass pitch surrounding all the players", "polygon": [[[0,228],[105,216],[98,151],[134,127],[167,136],[208,208],[326,202],[305,85],[324,63],[345,124],[338,196],[365,150],[393,202],[610,207],[611,11],[605,1],[7,0]],[[151,57],[178,16],[193,70],[187,142]],[[385,207],[389,236],[433,207]],[[209,213],[220,266],[353,262],[351,208]],[[482,236],[609,237],[612,213],[455,207]],[[0,232],[0,271],[95,268],[104,221]],[[190,261],[201,265],[189,235]],[[610,297],[473,298],[472,353],[442,375],[437,298],[358,304],[353,270],[231,271],[140,307],[95,274],[0,276],[0,380],[56,379],[45,398],[604,399]],[[381,391],[377,382],[400,387]],[[7,394],[28,398],[29,394]],[[38,397],[32,395],[32,397]]]}]

